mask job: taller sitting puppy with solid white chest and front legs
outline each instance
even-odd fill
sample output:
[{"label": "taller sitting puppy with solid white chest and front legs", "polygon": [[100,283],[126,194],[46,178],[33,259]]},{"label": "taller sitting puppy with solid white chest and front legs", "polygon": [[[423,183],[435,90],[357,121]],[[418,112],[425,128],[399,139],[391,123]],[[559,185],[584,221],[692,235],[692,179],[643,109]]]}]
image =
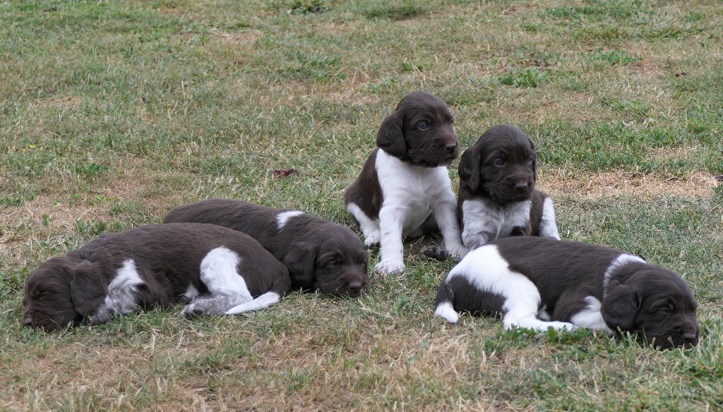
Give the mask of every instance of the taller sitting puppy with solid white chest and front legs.
[{"label": "taller sitting puppy with solid white chest and front legs", "polygon": [[404,270],[402,240],[424,234],[428,219],[433,221],[424,226],[442,232],[445,248],[432,246],[425,254],[444,259],[467,252],[447,170],[459,153],[452,123],[449,108],[435,95],[409,93],[382,121],[377,149],[344,192],[346,210],[361,226],[364,244],[381,246],[379,272]]}]

